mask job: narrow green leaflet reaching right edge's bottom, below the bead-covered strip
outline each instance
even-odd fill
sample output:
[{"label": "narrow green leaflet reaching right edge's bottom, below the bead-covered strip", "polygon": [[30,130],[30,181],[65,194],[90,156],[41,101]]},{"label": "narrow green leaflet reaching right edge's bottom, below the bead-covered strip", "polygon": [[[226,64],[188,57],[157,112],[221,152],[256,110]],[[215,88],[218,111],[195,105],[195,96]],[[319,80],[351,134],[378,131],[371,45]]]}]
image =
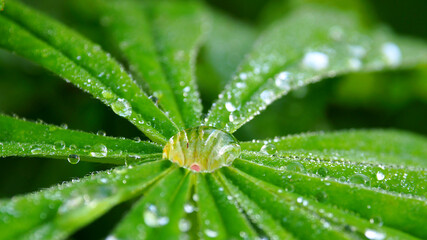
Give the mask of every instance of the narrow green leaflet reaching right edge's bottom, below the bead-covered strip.
[{"label": "narrow green leaflet reaching right edge's bottom, below the bead-covered strip", "polygon": [[427,215],[427,200],[424,197],[371,188],[364,181],[338,182],[304,173],[300,168],[276,170],[242,160],[234,161],[233,166],[252,177],[303,197],[314,197],[318,201],[357,213],[365,219],[380,218],[384,226],[416,237],[427,237],[424,230],[427,224],[424,217]]}]

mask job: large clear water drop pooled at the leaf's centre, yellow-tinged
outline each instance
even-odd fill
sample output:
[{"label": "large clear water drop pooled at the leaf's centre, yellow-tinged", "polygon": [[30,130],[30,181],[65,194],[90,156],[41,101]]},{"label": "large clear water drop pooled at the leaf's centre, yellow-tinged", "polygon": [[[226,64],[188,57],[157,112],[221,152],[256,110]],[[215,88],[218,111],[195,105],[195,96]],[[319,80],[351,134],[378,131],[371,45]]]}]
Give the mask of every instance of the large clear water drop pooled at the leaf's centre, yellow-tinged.
[{"label": "large clear water drop pooled at the leaf's centre, yellow-tinged", "polygon": [[163,158],[194,172],[212,172],[230,165],[240,155],[240,145],[233,135],[200,126],[171,137],[163,149]]}]

